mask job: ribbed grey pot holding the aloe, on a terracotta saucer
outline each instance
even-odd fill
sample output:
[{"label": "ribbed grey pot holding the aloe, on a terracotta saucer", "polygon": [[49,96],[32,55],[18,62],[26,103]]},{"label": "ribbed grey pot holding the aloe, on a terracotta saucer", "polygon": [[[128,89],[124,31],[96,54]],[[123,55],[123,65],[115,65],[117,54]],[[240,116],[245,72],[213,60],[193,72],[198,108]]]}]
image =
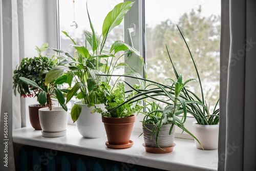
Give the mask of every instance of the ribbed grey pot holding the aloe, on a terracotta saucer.
[{"label": "ribbed grey pot holding the aloe, on a terracotta saucer", "polygon": [[[153,124],[145,124],[145,126],[147,127],[147,129],[149,130],[153,130],[154,126]],[[172,124],[163,124],[158,136],[158,144],[160,147],[165,148],[165,147],[170,147],[173,145],[174,143],[174,137],[175,137],[175,125],[173,127],[172,133],[169,135],[169,130],[170,130],[170,126],[172,126]],[[156,134],[157,132],[154,132],[152,138],[151,138],[151,131],[148,131],[142,123],[142,131],[143,131],[143,138],[144,138],[144,142],[145,145],[148,147],[156,147],[157,143],[156,143]],[[155,131],[157,131],[158,129],[156,129]]]}]

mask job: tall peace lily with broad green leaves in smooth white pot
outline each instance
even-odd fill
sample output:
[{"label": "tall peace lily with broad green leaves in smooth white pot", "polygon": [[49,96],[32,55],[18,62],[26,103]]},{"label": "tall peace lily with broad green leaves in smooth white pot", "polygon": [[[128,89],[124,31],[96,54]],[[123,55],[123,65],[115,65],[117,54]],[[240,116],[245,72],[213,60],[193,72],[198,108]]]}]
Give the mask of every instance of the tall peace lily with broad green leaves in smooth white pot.
[{"label": "tall peace lily with broad green leaves in smooth white pot", "polygon": [[[76,122],[79,133],[85,138],[100,138],[105,136],[104,125],[101,122],[101,114],[97,112],[92,114],[93,109],[90,109],[90,106],[96,105],[100,108],[104,108],[104,105],[98,100],[98,92],[101,91],[101,86],[99,85],[102,84],[102,82],[110,84],[111,76],[100,77],[96,74],[112,74],[118,67],[129,67],[126,63],[117,63],[118,59],[124,54],[136,53],[139,55],[137,50],[122,41],[115,41],[110,50],[104,49],[108,34],[121,23],[126,12],[130,10],[132,5],[132,2],[124,2],[116,5],[104,19],[101,36],[96,35],[88,12],[92,32],[84,32],[86,36],[85,46],[77,46],[76,42],[71,38],[76,50],[74,57],[67,52],[54,49],[56,52],[66,54],[66,56],[57,55],[57,57],[61,59],[60,66],[67,65],[68,70],[60,70],[60,66],[58,66],[49,71],[49,75],[55,79],[65,72],[68,74],[68,83],[71,90],[67,93],[66,103],[69,102],[73,96],[79,99],[79,101],[75,102],[71,110],[71,117],[73,121]],[[70,37],[66,32],[63,33]],[[116,56],[118,52],[125,50],[129,51],[120,56]],[[113,62],[114,58],[117,58],[116,62]],[[58,74],[54,75],[51,73]],[[130,74],[135,74],[132,68]],[[72,87],[71,83],[73,79],[76,80],[76,84]]]}]

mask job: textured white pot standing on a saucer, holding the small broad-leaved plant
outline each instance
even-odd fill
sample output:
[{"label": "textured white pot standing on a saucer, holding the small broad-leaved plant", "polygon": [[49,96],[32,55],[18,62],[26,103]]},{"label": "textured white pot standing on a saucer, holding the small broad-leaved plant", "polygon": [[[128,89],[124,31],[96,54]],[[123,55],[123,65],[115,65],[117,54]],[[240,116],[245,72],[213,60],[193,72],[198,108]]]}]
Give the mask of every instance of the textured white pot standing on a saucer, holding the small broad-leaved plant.
[{"label": "textured white pot standing on a saucer, holding the small broad-leaved plant", "polygon": [[48,133],[66,131],[68,124],[68,112],[61,107],[39,109],[39,121],[42,131]]}]

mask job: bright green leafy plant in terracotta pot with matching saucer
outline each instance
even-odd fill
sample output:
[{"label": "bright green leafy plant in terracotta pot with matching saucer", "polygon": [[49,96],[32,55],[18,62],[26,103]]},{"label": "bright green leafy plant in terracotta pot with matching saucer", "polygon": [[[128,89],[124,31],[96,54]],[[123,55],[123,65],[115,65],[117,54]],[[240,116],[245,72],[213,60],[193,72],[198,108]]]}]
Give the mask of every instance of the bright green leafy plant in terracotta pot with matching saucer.
[{"label": "bright green leafy plant in terracotta pot with matching saucer", "polygon": [[[102,122],[105,126],[106,136],[108,141],[105,143],[110,148],[128,148],[133,145],[133,141],[130,140],[133,124],[136,120],[134,115],[143,108],[136,102],[135,106],[131,103],[126,103],[120,108],[113,110],[116,106],[123,103],[126,98],[134,97],[137,92],[132,92],[130,95],[125,95],[124,83],[118,82],[116,89],[111,88],[107,83],[102,82],[101,91],[98,94],[98,100],[105,105],[105,109],[101,109],[95,106],[92,111],[101,113]],[[136,88],[139,88],[136,86]]]}]

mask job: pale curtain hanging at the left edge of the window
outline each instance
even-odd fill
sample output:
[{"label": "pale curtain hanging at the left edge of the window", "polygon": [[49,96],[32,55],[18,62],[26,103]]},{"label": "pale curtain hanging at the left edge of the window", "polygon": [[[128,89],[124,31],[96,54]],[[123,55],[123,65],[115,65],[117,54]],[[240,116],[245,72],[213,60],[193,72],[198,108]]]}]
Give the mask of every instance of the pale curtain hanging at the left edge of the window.
[{"label": "pale curtain hanging at the left edge of the window", "polygon": [[0,170],[15,170],[12,143],[12,2],[1,1]]}]

